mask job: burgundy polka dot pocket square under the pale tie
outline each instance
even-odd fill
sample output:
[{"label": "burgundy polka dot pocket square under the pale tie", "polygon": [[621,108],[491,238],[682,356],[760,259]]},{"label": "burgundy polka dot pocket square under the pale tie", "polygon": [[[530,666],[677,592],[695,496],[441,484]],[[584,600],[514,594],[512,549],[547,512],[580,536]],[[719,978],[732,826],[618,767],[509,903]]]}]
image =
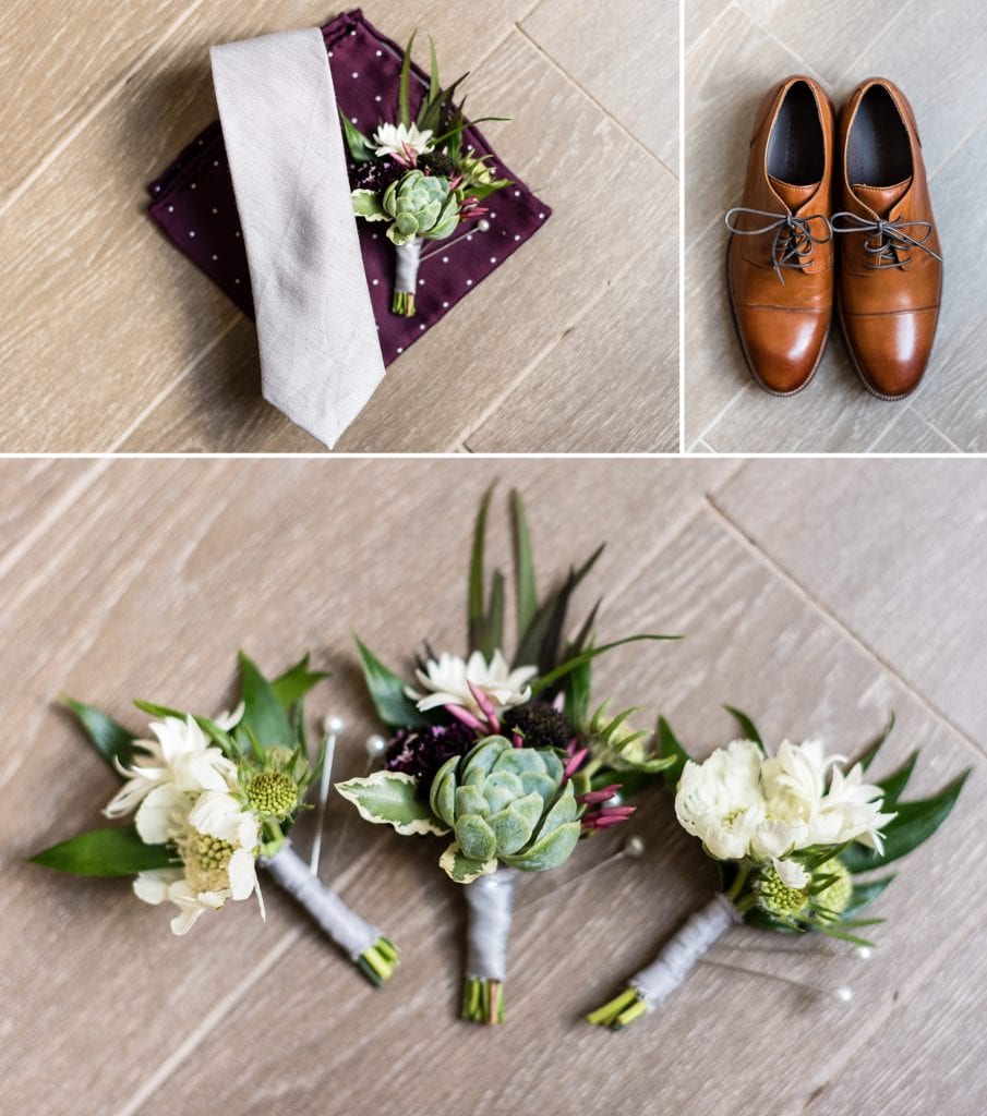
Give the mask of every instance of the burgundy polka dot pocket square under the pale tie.
[{"label": "burgundy polka dot pocket square under the pale tie", "polygon": [[[395,119],[402,48],[381,35],[360,10],[337,16],[323,28],[323,38],[341,110],[365,133]],[[412,70],[414,110],[428,78],[418,67]],[[497,157],[478,128],[468,128],[464,138],[477,154],[491,156],[489,165],[497,177],[511,179],[512,184],[489,199],[486,231],[463,225],[448,240],[427,244],[415,317],[402,318],[391,310],[394,246],[373,225],[357,222],[385,365],[500,267],[552,213]],[[252,318],[247,253],[219,122],[209,125],[148,190],[151,215],[166,235]]]}]

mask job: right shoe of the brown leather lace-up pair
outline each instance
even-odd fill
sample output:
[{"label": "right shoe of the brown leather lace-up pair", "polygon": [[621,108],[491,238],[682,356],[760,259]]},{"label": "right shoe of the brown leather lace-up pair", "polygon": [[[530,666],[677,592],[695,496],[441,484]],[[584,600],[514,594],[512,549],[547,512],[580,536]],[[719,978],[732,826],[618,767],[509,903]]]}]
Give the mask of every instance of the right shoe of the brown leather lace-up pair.
[{"label": "right shoe of the brown leather lace-up pair", "polygon": [[900,400],[932,352],[942,257],[914,115],[891,81],[869,78],[843,106],[840,167],[843,335],[868,391]]}]

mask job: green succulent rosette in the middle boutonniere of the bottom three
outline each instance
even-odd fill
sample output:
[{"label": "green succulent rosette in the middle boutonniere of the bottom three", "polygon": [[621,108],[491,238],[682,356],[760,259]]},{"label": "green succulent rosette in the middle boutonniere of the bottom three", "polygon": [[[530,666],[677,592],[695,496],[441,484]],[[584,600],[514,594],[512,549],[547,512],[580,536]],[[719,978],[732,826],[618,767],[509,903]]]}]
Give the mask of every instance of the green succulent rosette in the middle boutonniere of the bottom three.
[{"label": "green succulent rosette in the middle boutonniere of the bottom three", "polygon": [[492,872],[498,860],[523,872],[557,868],[579,839],[582,807],[562,760],[505,737],[487,737],[448,760],[430,805],[456,837],[442,867],[460,883]]}]

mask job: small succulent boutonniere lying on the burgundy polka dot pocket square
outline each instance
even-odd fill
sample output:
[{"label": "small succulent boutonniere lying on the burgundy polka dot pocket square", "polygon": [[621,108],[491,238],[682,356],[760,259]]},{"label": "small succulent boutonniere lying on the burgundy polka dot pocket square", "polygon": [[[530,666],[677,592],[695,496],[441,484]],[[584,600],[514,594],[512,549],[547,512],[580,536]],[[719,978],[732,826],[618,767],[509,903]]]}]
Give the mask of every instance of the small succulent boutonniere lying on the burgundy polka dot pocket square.
[{"label": "small succulent boutonniere lying on the burgundy polka dot pocket square", "polygon": [[413,45],[412,35],[401,67],[397,124],[384,122],[367,136],[343,117],[354,166],[353,212],[365,221],[380,222],[394,244],[397,269],[392,310],[405,318],[415,315],[414,292],[424,241],[444,240],[463,222],[482,219],[487,210],[480,203],[510,185],[509,179],[494,177],[487,165],[491,156],[477,155],[463,144],[463,132],[471,124],[506,117],[466,119],[452,98],[468,75],[443,88],[434,44],[429,89],[418,115],[411,118]]}]

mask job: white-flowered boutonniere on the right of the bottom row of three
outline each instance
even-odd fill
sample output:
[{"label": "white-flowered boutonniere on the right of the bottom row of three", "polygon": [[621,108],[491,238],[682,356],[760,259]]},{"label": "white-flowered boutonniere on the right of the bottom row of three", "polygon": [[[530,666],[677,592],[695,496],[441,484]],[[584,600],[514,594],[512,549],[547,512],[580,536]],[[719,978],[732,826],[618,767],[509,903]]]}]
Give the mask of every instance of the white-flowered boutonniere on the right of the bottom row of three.
[{"label": "white-flowered boutonniere on the right of the bottom row of three", "polygon": [[[665,721],[660,752],[672,760],[665,779],[675,789],[675,816],[716,860],[720,888],[631,978],[624,992],[590,1014],[619,1030],[660,1007],[726,931],[746,923],[782,933],[818,932],[870,950],[860,917],[894,878],[866,874],[912,852],[946,820],[969,770],[931,798],[901,801],[918,752],[878,782],[868,771],[894,719],[850,764],[827,756],[818,740],[784,741],[769,753],[739,710],[744,739],[701,763],[688,758]],[[849,998],[845,989],[837,998]]]}]

